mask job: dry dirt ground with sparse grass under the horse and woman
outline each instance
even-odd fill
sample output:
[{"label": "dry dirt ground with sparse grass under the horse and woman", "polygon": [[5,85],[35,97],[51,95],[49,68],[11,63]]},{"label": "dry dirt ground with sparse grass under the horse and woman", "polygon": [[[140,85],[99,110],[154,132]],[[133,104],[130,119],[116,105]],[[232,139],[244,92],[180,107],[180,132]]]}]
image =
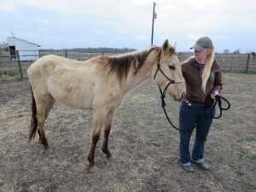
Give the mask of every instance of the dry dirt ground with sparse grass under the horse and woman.
[{"label": "dry dirt ground with sparse grass under the horse and woman", "polygon": [[[117,158],[107,160],[98,143],[98,173],[88,171],[86,159],[91,111],[56,103],[45,125],[51,147],[45,153],[38,136],[27,143],[32,102],[28,80],[1,83],[0,191],[256,191],[255,79],[224,73],[222,96],[231,108],[213,121],[205,149],[210,170],[194,166],[193,173],[179,165],[179,134],[166,120],[154,81],[125,97],[109,137]],[[166,103],[177,124],[179,103],[170,97]]]}]

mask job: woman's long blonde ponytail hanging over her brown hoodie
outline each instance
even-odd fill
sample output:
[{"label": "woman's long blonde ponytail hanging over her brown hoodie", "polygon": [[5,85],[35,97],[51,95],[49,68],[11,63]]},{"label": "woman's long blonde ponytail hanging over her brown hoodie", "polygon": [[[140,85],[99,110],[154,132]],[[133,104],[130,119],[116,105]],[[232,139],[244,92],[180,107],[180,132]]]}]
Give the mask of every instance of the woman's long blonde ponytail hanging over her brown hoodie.
[{"label": "woman's long blonde ponytail hanging over her brown hoodie", "polygon": [[206,92],[206,90],[207,90],[207,80],[211,73],[214,55],[215,55],[215,49],[214,49],[214,47],[212,47],[211,53],[209,55],[207,55],[207,63],[205,65],[204,72],[201,74],[201,79],[202,79],[201,88],[204,92]]}]

